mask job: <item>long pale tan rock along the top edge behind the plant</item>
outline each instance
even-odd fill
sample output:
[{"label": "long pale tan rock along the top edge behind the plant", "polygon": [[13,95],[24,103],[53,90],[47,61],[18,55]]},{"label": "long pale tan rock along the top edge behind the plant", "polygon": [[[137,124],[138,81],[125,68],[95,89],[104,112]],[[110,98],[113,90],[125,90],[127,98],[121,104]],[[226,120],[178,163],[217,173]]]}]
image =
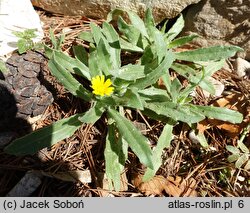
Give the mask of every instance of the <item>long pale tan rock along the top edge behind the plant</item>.
[{"label": "long pale tan rock along the top edge behind the plant", "polygon": [[151,7],[155,21],[177,16],[184,8],[200,0],[31,0],[34,6],[64,15],[80,15],[90,18],[106,18],[115,8],[132,10],[143,16],[147,7]]}]

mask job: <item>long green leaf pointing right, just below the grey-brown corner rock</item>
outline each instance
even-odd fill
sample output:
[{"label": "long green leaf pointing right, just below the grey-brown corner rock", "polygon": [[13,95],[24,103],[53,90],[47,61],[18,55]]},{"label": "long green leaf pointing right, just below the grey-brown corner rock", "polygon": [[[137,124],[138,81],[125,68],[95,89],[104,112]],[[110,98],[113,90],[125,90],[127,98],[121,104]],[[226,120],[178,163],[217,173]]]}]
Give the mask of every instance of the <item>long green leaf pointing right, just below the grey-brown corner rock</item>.
[{"label": "long green leaf pointing right, just below the grey-brown corner rock", "polygon": [[218,61],[232,57],[238,51],[243,51],[243,49],[237,46],[214,46],[178,52],[175,53],[175,57],[183,61]]}]

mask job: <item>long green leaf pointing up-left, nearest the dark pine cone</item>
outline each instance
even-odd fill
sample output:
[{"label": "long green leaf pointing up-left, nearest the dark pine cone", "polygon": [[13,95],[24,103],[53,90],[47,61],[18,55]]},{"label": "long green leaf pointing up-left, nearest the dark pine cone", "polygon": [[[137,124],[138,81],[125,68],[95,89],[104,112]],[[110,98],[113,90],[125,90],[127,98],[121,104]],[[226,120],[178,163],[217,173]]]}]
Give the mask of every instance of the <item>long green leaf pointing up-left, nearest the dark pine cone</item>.
[{"label": "long green leaf pointing up-left, nearest the dark pine cone", "polygon": [[68,72],[63,66],[61,66],[55,58],[52,58],[48,66],[51,73],[56,76],[58,81],[60,81],[63,86],[73,95],[82,98],[85,101],[90,101],[92,98],[92,93],[85,89],[82,84],[80,84],[70,72]]}]

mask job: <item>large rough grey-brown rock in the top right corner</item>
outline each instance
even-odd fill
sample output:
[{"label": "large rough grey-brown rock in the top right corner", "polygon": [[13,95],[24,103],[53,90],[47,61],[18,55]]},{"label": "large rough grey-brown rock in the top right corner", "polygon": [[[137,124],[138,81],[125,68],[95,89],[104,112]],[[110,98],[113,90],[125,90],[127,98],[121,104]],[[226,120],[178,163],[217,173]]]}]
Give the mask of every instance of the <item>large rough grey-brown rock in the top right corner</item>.
[{"label": "large rough grey-brown rock in the top right corner", "polygon": [[[250,59],[250,1],[202,0],[187,10],[183,34],[197,33],[200,46],[237,45]],[[242,53],[241,53],[242,54]]]}]

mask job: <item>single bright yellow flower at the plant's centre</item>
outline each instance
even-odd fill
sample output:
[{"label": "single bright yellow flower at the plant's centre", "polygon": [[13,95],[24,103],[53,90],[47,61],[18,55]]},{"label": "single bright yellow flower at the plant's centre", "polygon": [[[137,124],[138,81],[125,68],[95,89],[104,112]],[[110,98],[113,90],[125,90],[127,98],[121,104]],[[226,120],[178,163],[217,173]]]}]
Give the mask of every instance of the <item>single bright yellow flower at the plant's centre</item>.
[{"label": "single bright yellow flower at the plant's centre", "polygon": [[95,95],[100,95],[100,96],[111,95],[111,93],[114,90],[114,87],[112,87],[111,85],[112,85],[111,80],[108,78],[105,81],[104,75],[101,76],[97,75],[93,77],[91,80],[91,87]]}]

